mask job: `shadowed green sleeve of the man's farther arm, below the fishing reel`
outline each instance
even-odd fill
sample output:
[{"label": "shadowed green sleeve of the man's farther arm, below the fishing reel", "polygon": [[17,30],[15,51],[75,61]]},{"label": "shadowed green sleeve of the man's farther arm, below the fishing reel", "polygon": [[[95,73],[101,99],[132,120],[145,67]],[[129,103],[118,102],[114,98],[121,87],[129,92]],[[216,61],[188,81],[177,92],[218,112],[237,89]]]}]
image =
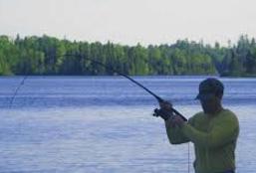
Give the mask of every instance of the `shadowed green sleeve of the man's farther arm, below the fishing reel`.
[{"label": "shadowed green sleeve of the man's farther arm, below the fishing reel", "polygon": [[[190,118],[187,124],[191,124],[191,123],[192,123],[192,119]],[[165,128],[166,128],[168,140],[171,144],[180,144],[180,143],[185,143],[190,141],[190,139],[186,137],[186,135],[183,133],[180,127],[178,126],[173,127],[170,125],[170,119],[165,121]]]}]

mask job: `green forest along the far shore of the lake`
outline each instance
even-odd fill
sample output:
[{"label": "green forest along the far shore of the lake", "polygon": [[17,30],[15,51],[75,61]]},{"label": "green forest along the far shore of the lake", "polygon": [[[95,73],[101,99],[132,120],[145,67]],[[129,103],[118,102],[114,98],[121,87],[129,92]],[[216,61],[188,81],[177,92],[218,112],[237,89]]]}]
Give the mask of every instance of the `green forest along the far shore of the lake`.
[{"label": "green forest along the far shore of the lake", "polygon": [[[80,56],[64,56],[67,54]],[[127,75],[256,76],[254,38],[240,36],[221,47],[177,40],[170,45],[143,47],[108,42],[88,43],[49,36],[0,36],[0,75],[115,75],[86,58]]]}]

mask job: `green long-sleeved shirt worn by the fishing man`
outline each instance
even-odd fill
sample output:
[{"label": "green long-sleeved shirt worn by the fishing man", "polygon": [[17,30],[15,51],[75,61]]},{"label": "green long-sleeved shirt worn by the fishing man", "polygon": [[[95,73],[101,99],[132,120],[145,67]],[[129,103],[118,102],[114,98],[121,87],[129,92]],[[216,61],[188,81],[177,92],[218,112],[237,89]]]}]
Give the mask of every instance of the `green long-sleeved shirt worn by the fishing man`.
[{"label": "green long-sleeved shirt worn by the fishing man", "polygon": [[209,117],[196,113],[181,127],[172,127],[165,121],[169,142],[194,144],[195,173],[218,173],[235,169],[235,147],[239,134],[236,115],[223,109]]}]

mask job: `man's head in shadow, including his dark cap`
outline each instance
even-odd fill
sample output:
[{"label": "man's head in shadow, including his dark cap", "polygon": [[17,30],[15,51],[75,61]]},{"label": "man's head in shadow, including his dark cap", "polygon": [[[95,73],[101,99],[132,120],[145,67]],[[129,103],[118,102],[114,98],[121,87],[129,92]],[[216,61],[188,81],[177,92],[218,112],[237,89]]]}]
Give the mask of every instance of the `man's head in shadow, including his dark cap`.
[{"label": "man's head in shadow, including his dark cap", "polygon": [[217,79],[209,78],[200,83],[196,99],[200,100],[205,113],[214,114],[221,108],[223,91],[224,86]]}]

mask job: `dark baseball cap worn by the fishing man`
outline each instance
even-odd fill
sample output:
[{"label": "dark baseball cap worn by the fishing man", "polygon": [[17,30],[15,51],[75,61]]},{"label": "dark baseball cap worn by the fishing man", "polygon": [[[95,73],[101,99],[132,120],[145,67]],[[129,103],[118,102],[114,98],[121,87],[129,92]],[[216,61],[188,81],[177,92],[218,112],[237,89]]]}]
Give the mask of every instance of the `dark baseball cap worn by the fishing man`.
[{"label": "dark baseball cap worn by the fishing man", "polygon": [[214,78],[208,78],[202,81],[199,85],[199,93],[196,99],[208,99],[212,96],[222,97],[224,91],[223,84]]}]

